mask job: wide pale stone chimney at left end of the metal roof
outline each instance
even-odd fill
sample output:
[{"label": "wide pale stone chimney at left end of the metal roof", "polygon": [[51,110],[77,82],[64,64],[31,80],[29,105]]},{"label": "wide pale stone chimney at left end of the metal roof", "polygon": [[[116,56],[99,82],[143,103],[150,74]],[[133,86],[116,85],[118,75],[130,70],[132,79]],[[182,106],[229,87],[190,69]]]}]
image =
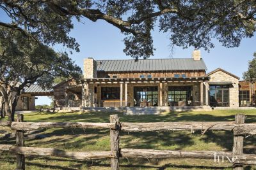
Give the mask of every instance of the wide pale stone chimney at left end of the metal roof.
[{"label": "wide pale stone chimney at left end of the metal roof", "polygon": [[97,62],[93,58],[84,59],[84,78],[97,78]]}]

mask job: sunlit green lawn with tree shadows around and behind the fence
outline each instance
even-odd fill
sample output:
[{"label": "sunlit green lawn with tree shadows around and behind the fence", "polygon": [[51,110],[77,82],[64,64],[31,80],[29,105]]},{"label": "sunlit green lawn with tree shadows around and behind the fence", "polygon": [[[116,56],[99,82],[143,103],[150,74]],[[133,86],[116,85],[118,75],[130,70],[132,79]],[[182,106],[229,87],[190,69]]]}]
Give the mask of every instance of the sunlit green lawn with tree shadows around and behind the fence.
[{"label": "sunlit green lawn with tree shadows around and behind the fence", "polygon": [[[232,121],[234,115],[244,113],[246,122],[256,122],[255,110],[214,110],[171,112],[164,115],[123,115],[120,122],[177,122],[177,121]],[[27,113],[27,122],[109,122],[115,113]],[[44,139],[26,139],[26,146],[54,147],[70,151],[110,150],[108,129],[44,129]],[[121,148],[148,148],[157,150],[232,150],[232,132],[208,131],[184,132],[132,132],[121,133]],[[254,153],[256,138],[249,136],[244,142],[244,153]],[[0,139],[0,144],[15,144],[15,139]],[[109,160],[84,162],[57,157],[27,157],[27,169],[109,169]],[[121,169],[232,169],[231,164],[214,163],[199,159],[121,159]],[[0,169],[15,169],[15,155],[6,152],[0,155]],[[246,167],[253,169],[253,167]]]}]

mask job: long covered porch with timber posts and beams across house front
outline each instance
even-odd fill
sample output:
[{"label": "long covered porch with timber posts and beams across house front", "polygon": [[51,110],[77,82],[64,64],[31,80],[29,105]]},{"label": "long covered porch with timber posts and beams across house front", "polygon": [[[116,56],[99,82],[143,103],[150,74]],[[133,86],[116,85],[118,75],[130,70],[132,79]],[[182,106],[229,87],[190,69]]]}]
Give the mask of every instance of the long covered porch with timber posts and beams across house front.
[{"label": "long covered porch with timber posts and beams across house front", "polygon": [[88,78],[82,107],[209,106],[209,77]]}]

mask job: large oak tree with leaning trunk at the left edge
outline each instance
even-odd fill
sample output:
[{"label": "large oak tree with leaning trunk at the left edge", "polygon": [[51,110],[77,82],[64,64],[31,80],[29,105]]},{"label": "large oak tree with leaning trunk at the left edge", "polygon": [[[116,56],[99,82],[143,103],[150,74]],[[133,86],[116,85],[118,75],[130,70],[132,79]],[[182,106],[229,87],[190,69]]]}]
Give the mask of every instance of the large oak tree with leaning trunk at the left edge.
[{"label": "large oak tree with leaning trunk at the left edge", "polygon": [[14,120],[15,107],[24,87],[38,83],[49,88],[56,77],[78,80],[81,74],[80,67],[67,53],[56,53],[20,31],[0,27],[0,92],[8,120]]}]

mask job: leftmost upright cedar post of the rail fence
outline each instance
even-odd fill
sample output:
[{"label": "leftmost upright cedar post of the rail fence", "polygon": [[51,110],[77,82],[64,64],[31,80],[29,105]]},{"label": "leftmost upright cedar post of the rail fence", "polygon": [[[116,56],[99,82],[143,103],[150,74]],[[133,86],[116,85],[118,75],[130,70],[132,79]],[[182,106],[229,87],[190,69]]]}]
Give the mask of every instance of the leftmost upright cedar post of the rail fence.
[{"label": "leftmost upright cedar post of the rail fence", "polygon": [[[23,122],[23,115],[17,114],[17,122]],[[16,131],[16,145],[17,146],[25,146],[24,145],[24,132]],[[17,169],[16,170],[25,170],[25,156],[17,154]]]}]

